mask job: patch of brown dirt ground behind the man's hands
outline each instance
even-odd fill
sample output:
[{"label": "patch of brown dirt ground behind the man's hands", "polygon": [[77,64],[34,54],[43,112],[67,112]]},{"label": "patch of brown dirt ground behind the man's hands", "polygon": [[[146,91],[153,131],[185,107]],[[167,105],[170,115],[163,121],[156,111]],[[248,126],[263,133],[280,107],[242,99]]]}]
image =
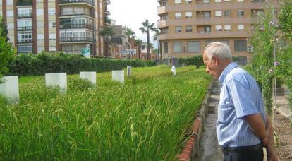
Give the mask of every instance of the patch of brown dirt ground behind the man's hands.
[{"label": "patch of brown dirt ground behind the man's hands", "polygon": [[277,153],[281,160],[292,160],[292,124],[281,114],[276,114],[274,131],[278,139],[275,140]]}]

